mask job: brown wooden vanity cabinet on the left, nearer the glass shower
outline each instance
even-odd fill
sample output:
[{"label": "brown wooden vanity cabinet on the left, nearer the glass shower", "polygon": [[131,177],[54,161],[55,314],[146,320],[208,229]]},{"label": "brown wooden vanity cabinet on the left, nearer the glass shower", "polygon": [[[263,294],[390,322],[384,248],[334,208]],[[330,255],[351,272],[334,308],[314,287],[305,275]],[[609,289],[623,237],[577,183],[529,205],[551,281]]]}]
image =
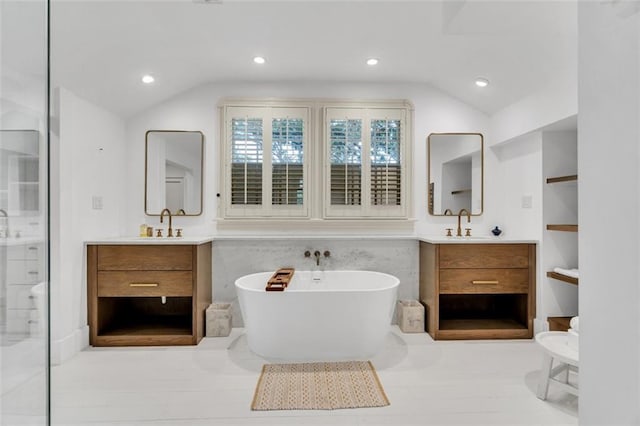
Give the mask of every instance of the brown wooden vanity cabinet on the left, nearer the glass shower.
[{"label": "brown wooden vanity cabinet on the left, nearer the glass shower", "polygon": [[89,343],[196,345],[211,304],[211,242],[87,245]]}]

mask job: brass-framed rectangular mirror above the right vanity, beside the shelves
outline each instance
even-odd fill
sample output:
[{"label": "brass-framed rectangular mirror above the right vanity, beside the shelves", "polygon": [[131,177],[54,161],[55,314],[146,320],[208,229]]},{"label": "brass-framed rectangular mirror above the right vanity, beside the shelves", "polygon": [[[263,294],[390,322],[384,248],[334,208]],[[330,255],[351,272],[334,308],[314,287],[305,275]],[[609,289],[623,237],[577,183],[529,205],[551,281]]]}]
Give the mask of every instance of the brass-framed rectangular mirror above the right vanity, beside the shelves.
[{"label": "brass-framed rectangular mirror above the right vanity, beside the shelves", "polygon": [[481,133],[431,133],[427,138],[429,214],[482,214],[484,138]]}]

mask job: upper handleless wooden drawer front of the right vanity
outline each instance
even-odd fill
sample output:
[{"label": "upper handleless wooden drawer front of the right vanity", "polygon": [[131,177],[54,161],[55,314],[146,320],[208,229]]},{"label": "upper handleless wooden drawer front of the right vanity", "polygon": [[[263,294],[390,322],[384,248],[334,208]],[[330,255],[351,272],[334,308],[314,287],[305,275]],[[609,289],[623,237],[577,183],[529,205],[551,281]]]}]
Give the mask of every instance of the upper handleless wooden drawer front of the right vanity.
[{"label": "upper handleless wooden drawer front of the right vanity", "polygon": [[440,268],[528,268],[526,244],[441,244]]}]

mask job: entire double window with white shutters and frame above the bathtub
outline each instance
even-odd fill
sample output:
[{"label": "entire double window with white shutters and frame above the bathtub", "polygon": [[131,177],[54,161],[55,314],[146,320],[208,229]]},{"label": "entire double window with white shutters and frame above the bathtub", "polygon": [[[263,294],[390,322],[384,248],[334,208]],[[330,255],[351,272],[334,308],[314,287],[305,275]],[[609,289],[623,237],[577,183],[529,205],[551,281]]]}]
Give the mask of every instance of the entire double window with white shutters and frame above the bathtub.
[{"label": "entire double window with white shutters and frame above the bathtub", "polygon": [[411,108],[402,100],[223,101],[219,225],[410,224]]}]

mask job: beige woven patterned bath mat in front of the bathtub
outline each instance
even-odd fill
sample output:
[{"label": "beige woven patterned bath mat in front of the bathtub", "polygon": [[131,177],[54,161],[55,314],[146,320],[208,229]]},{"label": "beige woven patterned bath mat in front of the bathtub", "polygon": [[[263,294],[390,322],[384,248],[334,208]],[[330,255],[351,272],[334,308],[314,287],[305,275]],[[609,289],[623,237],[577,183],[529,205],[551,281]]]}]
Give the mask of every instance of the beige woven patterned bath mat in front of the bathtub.
[{"label": "beige woven patterned bath mat in front of the bathtub", "polygon": [[383,407],[389,400],[370,361],[266,364],[252,410]]}]

